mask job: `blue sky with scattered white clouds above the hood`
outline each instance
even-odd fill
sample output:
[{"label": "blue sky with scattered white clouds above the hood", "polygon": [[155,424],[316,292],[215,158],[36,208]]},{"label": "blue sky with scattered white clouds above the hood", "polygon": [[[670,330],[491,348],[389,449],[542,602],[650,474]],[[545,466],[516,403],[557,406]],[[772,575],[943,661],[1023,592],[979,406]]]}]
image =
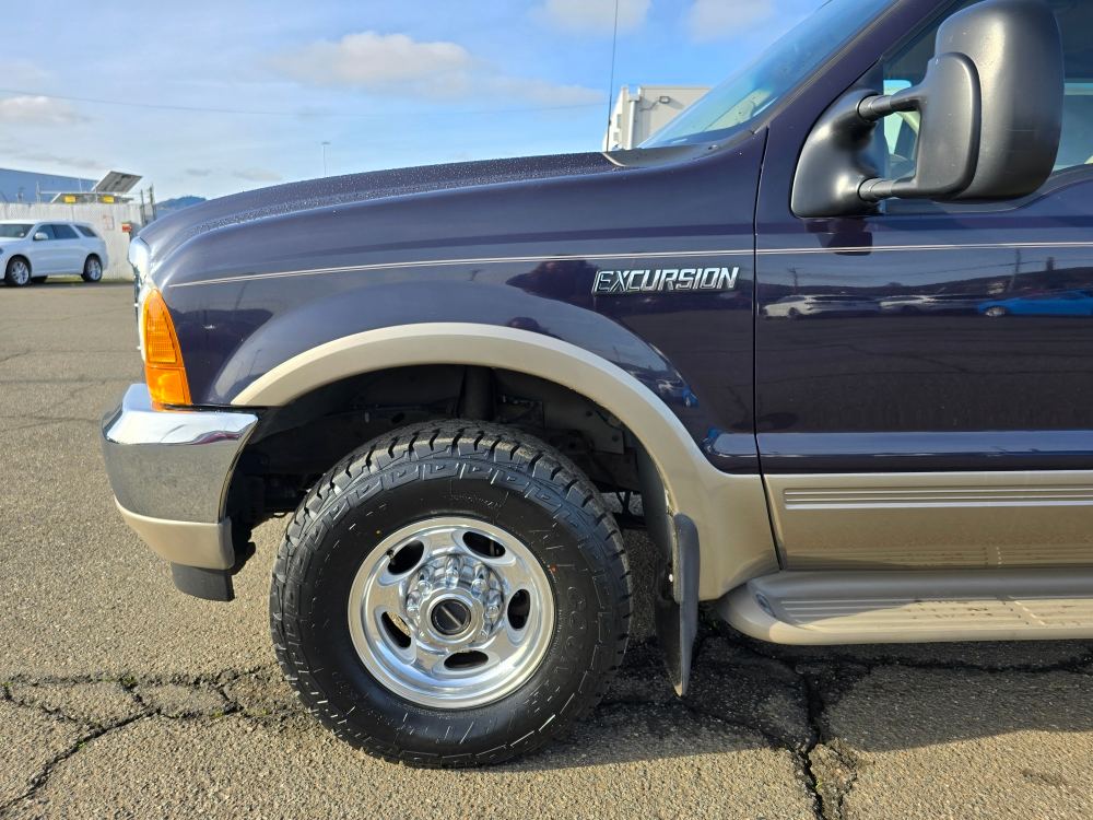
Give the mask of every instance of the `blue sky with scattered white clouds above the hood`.
[{"label": "blue sky with scattered white clouds above the hood", "polygon": [[[716,84],[819,4],[619,0],[614,92]],[[211,197],[319,176],[324,141],[330,174],[598,150],[613,19],[614,0],[23,4],[0,165]]]}]

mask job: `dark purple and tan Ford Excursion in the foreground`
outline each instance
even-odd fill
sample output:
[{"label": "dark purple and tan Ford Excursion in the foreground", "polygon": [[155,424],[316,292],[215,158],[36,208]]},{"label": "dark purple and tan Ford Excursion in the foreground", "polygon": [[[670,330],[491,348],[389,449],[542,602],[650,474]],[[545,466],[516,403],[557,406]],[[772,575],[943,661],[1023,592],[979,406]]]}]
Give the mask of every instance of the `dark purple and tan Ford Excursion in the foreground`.
[{"label": "dark purple and tan Ford Excursion in the foreground", "polygon": [[1093,323],[756,320],[789,292],[1093,290],[1093,173],[1057,167],[1093,156],[1062,117],[1091,42],[1089,2],[830,0],[638,150],[172,213],[131,246],[121,515],[222,601],[291,516],[281,668],[418,765],[509,759],[600,700],[638,507],[679,693],[701,601],[789,644],[1093,637]]}]

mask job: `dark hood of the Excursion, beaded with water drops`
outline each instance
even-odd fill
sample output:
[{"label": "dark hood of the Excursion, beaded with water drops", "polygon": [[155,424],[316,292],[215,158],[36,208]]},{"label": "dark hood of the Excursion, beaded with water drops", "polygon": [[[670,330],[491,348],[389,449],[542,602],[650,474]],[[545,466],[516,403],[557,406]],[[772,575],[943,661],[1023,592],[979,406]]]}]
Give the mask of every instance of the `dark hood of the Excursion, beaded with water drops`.
[{"label": "dark hood of the Excursion, beaded with water drops", "polygon": [[385,197],[607,173],[634,164],[633,159],[625,157],[633,153],[621,153],[618,159],[595,152],[485,160],[289,183],[184,208],[144,227],[140,238],[149,245],[153,257],[161,257],[198,234],[227,225]]}]

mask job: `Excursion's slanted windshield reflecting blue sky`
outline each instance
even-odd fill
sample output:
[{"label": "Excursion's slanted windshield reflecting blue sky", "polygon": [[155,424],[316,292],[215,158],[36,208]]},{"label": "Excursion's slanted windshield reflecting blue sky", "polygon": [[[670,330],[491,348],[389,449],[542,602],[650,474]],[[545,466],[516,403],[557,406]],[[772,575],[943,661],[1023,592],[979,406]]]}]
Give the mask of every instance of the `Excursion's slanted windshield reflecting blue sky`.
[{"label": "Excursion's slanted windshield reflecting blue sky", "polygon": [[828,0],[640,148],[710,142],[741,129],[796,89],[891,2]]}]

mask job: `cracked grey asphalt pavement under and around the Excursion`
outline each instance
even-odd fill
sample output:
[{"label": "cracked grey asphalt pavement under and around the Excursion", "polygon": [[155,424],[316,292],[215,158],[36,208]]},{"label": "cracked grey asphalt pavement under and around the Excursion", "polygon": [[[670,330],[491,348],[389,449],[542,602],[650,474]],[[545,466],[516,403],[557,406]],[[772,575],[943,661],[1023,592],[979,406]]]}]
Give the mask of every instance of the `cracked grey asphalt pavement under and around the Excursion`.
[{"label": "cracked grey asphalt pavement under and around the Excursion", "polygon": [[131,291],[0,288],[0,339],[2,817],[1093,816],[1093,643],[795,649],[709,620],[680,701],[647,594],[568,737],[472,772],[372,760],[277,671],[277,522],[219,605],[175,593],[115,512],[98,419],[140,376]]}]

